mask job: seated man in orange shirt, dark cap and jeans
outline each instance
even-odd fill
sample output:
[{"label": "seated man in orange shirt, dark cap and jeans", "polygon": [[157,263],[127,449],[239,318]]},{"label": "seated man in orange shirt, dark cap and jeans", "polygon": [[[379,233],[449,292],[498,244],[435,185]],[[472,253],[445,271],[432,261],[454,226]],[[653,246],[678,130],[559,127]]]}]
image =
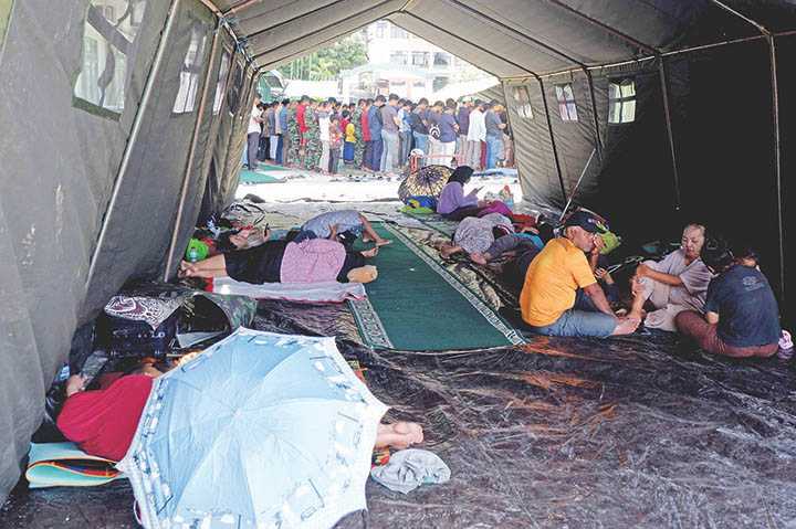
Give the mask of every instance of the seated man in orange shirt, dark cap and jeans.
[{"label": "seated man in orange shirt, dark cap and jeans", "polygon": [[604,231],[585,211],[569,216],[564,236],[549,241],[534,257],[520,294],[522,317],[547,336],[629,335],[638,318],[617,318],[597,284],[586,253],[598,252],[595,239]]}]

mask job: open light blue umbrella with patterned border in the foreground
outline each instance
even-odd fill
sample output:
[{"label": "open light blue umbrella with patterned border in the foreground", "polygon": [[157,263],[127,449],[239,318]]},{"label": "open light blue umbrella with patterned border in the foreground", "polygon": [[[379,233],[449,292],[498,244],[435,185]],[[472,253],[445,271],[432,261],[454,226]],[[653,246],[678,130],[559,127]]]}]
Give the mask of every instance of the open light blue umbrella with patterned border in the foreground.
[{"label": "open light blue umbrella with patterned border in the foreground", "polygon": [[332,527],[386,410],[333,338],[239,328],[156,380],[118,467],[149,529]]}]

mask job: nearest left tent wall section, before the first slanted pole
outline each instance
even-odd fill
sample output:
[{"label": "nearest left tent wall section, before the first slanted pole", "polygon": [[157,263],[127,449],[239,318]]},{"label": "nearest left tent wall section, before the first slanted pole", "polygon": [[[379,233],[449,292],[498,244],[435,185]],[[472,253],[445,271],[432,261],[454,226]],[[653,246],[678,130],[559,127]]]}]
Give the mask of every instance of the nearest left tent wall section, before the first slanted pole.
[{"label": "nearest left tent wall section, before the first slanted pole", "polygon": [[[82,72],[83,33],[90,17],[107,25],[88,3],[13,2],[0,57],[0,497],[19,476],[80,322],[91,254],[167,11],[149,2],[127,28],[101,99],[92,83],[103,70]],[[94,43],[105,38],[85,31]]]}]

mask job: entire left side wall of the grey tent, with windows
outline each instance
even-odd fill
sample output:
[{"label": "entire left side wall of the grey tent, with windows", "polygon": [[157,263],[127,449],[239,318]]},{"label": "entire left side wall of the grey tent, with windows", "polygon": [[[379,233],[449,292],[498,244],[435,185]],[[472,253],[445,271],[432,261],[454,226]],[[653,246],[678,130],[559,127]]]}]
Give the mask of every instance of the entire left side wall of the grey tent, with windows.
[{"label": "entire left side wall of the grey tent, with windows", "polygon": [[[0,498],[19,478],[74,330],[127,279],[163,274],[184,184],[177,256],[211,172],[206,151],[241,144],[231,137],[240,126],[221,130],[226,107],[213,114],[221,52],[232,59],[234,50],[223,31],[210,56],[216,15],[199,0],[137,6],[123,13],[86,0],[33,0],[14,2],[8,19],[0,57]],[[239,107],[250,108],[253,72],[242,66]],[[211,200],[231,200],[233,168],[222,171],[223,198]]]}]

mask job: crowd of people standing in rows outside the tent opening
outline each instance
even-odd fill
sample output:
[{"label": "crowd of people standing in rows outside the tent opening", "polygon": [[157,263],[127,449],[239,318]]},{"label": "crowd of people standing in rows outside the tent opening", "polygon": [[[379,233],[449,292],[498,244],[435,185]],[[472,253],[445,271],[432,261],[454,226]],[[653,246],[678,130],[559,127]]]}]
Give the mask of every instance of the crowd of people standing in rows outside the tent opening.
[{"label": "crowd of people standing in rows outside the tent opening", "polygon": [[513,167],[513,140],[499,102],[454,99],[429,104],[378,95],[345,104],[331,97],[263,102],[256,94],[249,118],[244,161],[254,170],[268,160],[334,174],[341,163],[398,174],[410,157],[420,166]]}]

